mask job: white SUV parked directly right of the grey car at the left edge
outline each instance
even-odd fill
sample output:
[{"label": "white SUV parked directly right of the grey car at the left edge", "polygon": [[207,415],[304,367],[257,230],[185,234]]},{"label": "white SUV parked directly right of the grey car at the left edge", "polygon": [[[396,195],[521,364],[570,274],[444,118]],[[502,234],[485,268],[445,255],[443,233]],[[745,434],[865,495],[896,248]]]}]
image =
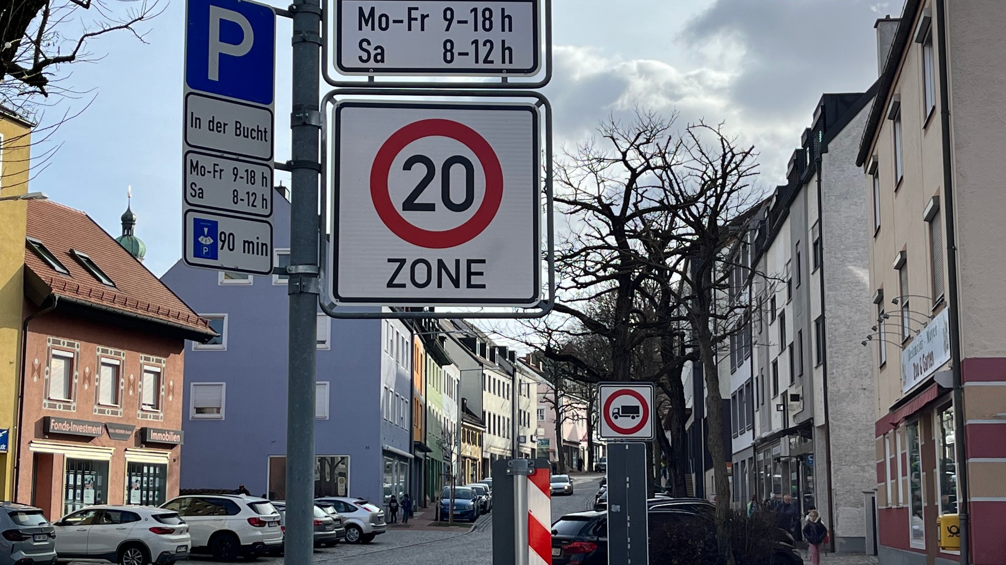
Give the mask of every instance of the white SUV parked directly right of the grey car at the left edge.
[{"label": "white SUV parked directly right of the grey car at the left edge", "polygon": [[191,545],[177,513],[151,506],[92,506],[52,526],[60,560],[167,565],[187,559]]}]

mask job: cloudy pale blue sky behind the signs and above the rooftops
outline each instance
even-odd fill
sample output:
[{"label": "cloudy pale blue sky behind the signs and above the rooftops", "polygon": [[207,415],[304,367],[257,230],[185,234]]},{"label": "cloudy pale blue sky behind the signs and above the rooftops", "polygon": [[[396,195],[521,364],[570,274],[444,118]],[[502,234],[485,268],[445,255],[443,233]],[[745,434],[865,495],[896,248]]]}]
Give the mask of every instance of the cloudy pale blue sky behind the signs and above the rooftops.
[{"label": "cloudy pale blue sky behind the signs and above the rooftops", "polygon": [[[683,122],[723,121],[754,144],[761,182],[774,186],[821,93],[862,91],[875,79],[873,22],[900,8],[895,0],[554,0],[556,71],[545,92],[557,141],[575,143],[599,120],[637,106],[677,110]],[[113,235],[132,185],[137,235],[156,274],[181,253],[183,16],[184,0],[171,0],[150,23],[147,44],[118,34],[91,45],[107,56],[73,65],[68,81],[94,89],[95,101],[52,136],[58,152],[31,185],[86,210]],[[278,34],[290,36],[282,18]],[[288,40],[277,56],[290,60]],[[289,155],[281,127],[289,77],[281,62],[278,160]],[[46,120],[54,116],[50,110]]]}]

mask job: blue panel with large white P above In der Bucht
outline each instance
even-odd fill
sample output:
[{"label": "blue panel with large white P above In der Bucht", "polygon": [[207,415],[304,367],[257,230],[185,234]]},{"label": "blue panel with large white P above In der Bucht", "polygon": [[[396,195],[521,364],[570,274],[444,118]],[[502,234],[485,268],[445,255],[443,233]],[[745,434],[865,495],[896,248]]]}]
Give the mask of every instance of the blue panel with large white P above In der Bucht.
[{"label": "blue panel with large white P above In der Bucht", "polygon": [[188,0],[189,88],[270,106],[276,90],[276,15],[242,0]]}]

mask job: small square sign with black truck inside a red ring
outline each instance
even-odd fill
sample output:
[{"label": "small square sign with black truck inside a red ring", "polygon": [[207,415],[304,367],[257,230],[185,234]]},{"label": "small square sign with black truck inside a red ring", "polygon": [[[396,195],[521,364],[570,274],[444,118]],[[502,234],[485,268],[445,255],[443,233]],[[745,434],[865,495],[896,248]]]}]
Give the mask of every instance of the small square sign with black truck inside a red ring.
[{"label": "small square sign with black truck inside a red ring", "polygon": [[600,383],[601,437],[653,439],[653,383]]}]

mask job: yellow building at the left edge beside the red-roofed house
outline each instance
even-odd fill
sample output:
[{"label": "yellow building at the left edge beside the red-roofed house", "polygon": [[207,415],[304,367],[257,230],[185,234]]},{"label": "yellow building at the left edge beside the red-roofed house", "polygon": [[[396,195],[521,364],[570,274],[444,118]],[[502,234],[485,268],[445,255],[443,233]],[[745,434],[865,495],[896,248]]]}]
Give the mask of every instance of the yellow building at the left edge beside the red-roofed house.
[{"label": "yellow building at the left edge beside the red-roofed house", "polygon": [[[12,498],[32,124],[0,107],[0,501]],[[14,197],[14,198],[12,198]],[[4,447],[6,446],[6,448]]]}]

